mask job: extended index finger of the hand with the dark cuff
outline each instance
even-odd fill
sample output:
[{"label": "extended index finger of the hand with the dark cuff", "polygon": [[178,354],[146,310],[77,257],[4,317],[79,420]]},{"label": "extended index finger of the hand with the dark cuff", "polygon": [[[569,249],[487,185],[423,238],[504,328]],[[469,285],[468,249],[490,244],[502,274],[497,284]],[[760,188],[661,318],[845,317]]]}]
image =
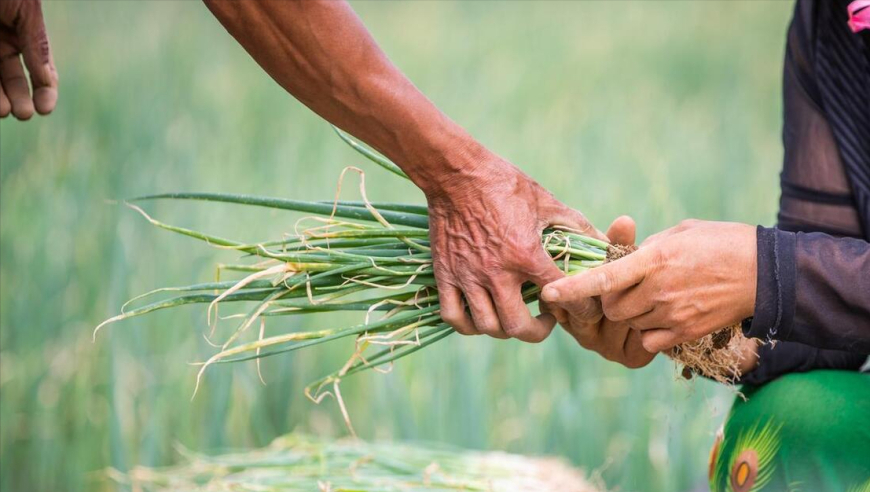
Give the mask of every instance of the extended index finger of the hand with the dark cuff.
[{"label": "extended index finger of the hand with the dark cuff", "polygon": [[652,248],[641,248],[619,261],[557,280],[544,287],[541,297],[561,304],[625,290],[644,279],[653,254]]}]

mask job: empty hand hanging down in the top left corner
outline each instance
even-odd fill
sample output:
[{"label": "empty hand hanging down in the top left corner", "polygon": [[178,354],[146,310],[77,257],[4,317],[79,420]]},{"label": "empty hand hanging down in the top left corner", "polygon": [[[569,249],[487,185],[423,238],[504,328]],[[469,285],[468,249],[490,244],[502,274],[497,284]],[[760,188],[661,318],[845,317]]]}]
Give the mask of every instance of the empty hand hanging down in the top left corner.
[{"label": "empty hand hanging down in the top left corner", "polygon": [[[21,58],[30,73],[33,97]],[[51,56],[40,0],[0,2],[0,117],[19,120],[48,114],[57,103],[57,70]]]}]

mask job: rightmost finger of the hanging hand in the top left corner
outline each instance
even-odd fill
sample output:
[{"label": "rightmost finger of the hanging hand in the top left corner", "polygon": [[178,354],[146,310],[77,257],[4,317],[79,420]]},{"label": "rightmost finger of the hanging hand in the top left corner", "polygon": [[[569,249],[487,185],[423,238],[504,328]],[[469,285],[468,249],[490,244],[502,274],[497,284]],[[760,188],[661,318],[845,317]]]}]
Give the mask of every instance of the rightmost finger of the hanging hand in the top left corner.
[{"label": "rightmost finger of the hanging hand in the top left corner", "polygon": [[57,104],[57,71],[42,9],[34,8],[29,15],[22,17],[17,30],[22,43],[21,54],[33,85],[33,103],[39,114],[48,114]]}]

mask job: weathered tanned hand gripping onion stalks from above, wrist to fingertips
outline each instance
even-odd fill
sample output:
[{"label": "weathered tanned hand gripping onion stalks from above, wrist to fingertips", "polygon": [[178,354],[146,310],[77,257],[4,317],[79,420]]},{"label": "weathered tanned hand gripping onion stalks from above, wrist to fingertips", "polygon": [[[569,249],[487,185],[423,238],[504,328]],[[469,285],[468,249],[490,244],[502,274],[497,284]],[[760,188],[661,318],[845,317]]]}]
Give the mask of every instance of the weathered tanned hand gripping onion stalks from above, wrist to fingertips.
[{"label": "weathered tanned hand gripping onion stalks from above, wrist to fingertips", "polygon": [[601,233],[493,155],[438,190],[427,198],[442,318],[466,335],[545,339],[555,318],[533,318],[520,293],[525,282],[543,286],[564,276],[541,246],[541,232],[563,225],[603,238]]}]

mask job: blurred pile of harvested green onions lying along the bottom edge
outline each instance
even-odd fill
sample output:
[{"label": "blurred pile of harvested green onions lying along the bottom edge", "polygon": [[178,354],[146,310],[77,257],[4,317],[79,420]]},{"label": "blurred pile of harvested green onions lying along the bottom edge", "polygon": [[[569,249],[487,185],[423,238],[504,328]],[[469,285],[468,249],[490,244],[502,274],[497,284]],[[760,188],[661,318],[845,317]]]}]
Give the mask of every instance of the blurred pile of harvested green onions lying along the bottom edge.
[{"label": "blurred pile of harvested green onions lying along the bottom edge", "polygon": [[180,450],[171,468],[110,470],[120,486],[145,492],[596,492],[561,459],[468,451],[424,443],[330,441],[300,434],[266,448],[206,456]]}]

